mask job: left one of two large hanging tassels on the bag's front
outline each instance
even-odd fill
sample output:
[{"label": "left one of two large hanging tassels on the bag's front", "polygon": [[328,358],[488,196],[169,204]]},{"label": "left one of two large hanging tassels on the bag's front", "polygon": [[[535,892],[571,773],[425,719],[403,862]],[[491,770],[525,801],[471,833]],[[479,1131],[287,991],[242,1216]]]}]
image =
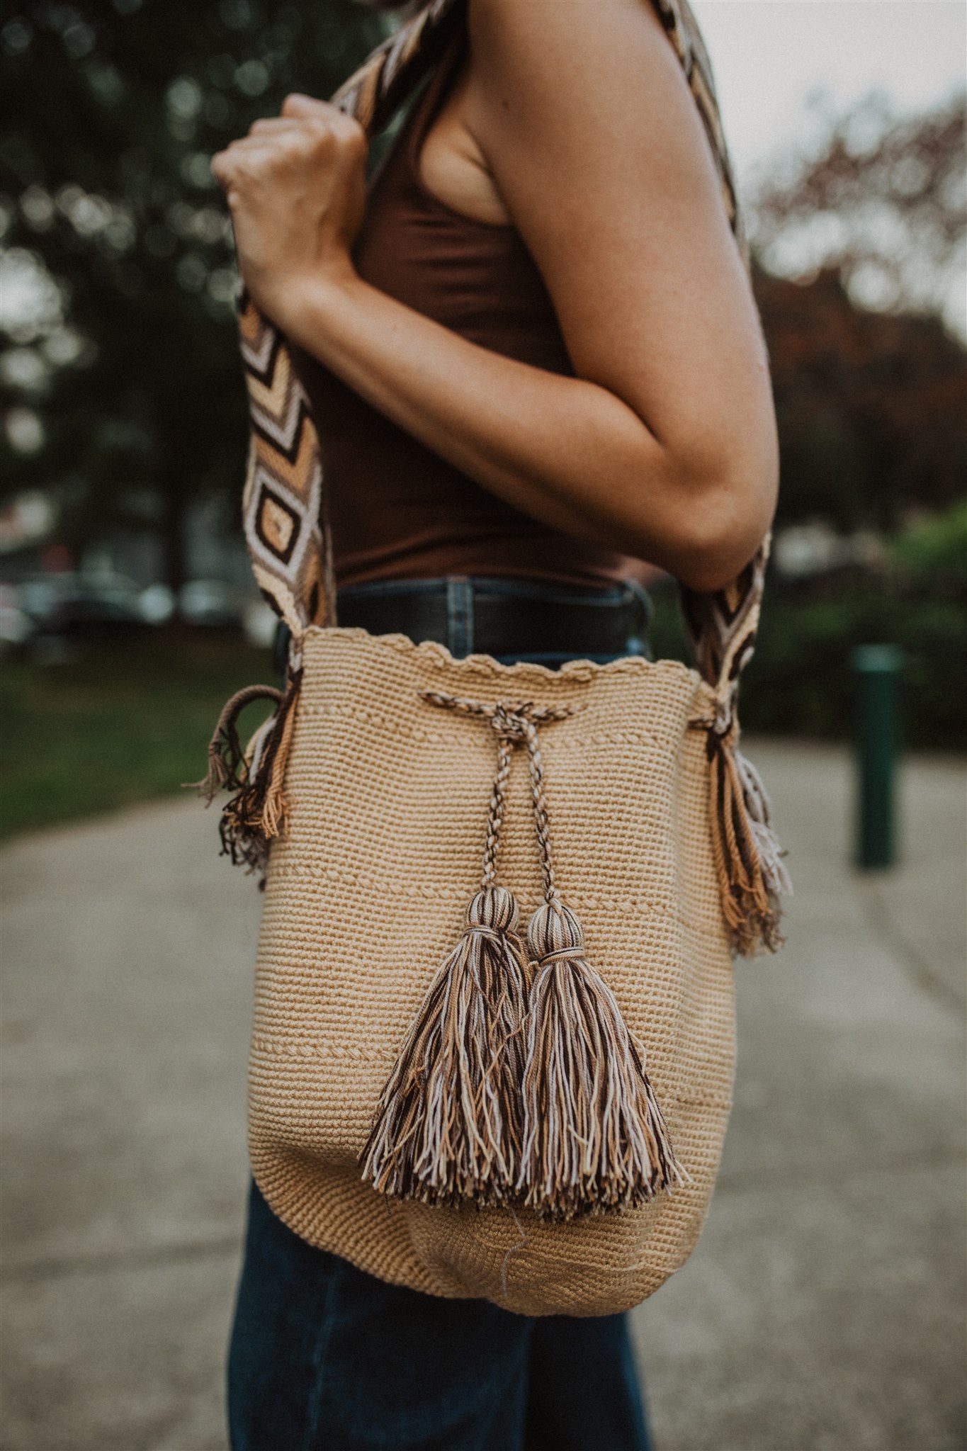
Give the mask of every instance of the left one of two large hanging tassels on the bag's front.
[{"label": "left one of two large hanging tassels on the bag's front", "polygon": [[520,1164],[528,963],[518,904],[486,885],[441,966],[375,1113],[362,1178],[426,1204],[500,1204]]}]

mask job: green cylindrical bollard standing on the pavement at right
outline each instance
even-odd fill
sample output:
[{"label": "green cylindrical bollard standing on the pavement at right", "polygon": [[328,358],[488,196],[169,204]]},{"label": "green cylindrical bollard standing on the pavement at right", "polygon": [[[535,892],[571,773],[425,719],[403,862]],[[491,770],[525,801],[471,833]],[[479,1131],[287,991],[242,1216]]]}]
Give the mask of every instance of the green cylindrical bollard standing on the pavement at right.
[{"label": "green cylindrical bollard standing on the pavement at right", "polygon": [[900,651],[892,644],[860,646],[852,669],[858,685],[855,865],[870,872],[896,860]]}]

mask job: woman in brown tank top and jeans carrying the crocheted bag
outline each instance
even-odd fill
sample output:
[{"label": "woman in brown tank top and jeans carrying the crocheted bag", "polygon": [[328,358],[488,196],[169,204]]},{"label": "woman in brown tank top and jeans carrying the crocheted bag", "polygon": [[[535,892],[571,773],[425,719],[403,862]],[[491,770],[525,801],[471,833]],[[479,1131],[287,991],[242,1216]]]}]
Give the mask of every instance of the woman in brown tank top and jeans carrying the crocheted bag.
[{"label": "woman in brown tank top and jeans carrying the crocheted bag", "polygon": [[[215,158],[242,276],[322,424],[339,618],[454,654],[644,651],[655,569],[728,583],[771,518],[765,354],[645,0],[470,0],[367,196],[291,96]],[[622,1318],[384,1286],[252,1193],[235,1451],[641,1448]]]}]

